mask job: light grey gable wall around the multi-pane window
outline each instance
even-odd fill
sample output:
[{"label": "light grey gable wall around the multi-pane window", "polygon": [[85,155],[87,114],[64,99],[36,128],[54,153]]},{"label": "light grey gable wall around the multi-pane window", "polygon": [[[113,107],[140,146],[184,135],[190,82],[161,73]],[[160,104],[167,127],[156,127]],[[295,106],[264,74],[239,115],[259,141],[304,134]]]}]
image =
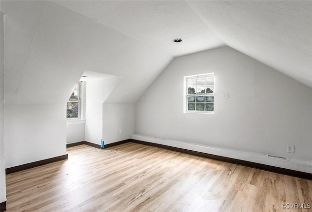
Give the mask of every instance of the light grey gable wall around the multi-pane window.
[{"label": "light grey gable wall around the multi-pane window", "polygon": [[[183,76],[209,72],[215,72],[215,114],[183,113]],[[175,58],[137,102],[139,135],[312,165],[311,126],[312,88],[230,47]],[[295,145],[294,154],[287,144]]]}]

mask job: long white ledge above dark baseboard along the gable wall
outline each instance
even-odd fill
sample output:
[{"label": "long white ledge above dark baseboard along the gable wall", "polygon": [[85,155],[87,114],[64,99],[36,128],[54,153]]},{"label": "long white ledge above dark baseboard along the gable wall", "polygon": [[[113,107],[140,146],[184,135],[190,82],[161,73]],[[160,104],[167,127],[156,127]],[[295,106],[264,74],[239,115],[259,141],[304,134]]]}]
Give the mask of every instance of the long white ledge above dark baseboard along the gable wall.
[{"label": "long white ledge above dark baseboard along the gable wall", "polygon": [[138,141],[147,141],[151,143],[163,144],[167,146],[193,150],[196,152],[202,152],[232,159],[240,159],[245,161],[250,161],[254,163],[260,163],[264,165],[270,165],[285,169],[291,169],[300,172],[306,172],[312,174],[312,161],[304,159],[292,159],[281,160],[281,159],[272,159],[268,158],[265,154],[253,153],[253,152],[242,152],[234,151],[231,149],[222,149],[211,146],[206,146],[202,144],[189,143],[185,141],[176,141],[164,138],[158,138],[153,136],[144,136],[140,134],[132,134],[130,139]]}]

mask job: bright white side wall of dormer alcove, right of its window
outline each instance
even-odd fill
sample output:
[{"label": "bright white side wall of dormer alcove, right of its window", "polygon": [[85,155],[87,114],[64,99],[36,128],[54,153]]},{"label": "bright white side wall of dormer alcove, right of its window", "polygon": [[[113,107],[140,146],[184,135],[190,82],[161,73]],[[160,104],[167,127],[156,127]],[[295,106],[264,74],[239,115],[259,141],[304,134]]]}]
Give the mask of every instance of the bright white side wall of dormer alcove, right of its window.
[{"label": "bright white side wall of dormer alcove, right of its window", "polygon": [[103,102],[121,77],[109,76],[86,82],[85,141],[100,144],[103,133]]}]

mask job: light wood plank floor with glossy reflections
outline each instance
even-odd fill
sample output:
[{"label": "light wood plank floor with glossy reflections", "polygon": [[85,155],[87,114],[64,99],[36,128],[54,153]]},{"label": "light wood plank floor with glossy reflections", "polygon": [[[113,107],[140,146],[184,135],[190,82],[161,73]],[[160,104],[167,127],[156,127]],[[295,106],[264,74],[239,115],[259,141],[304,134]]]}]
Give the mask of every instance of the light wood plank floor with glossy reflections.
[{"label": "light wood plank floor with glossy reflections", "polygon": [[68,160],[9,174],[8,212],[279,212],[312,204],[312,181],[137,143],[68,148]]}]

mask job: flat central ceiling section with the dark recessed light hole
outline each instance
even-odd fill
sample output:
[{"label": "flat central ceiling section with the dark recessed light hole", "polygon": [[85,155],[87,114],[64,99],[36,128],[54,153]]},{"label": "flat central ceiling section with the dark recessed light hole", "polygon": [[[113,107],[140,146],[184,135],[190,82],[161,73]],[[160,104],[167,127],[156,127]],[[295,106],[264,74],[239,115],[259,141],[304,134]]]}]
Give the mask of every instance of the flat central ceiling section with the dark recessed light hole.
[{"label": "flat central ceiling section with the dark recessed light hole", "polygon": [[55,2],[172,56],[224,45],[185,1]]}]

